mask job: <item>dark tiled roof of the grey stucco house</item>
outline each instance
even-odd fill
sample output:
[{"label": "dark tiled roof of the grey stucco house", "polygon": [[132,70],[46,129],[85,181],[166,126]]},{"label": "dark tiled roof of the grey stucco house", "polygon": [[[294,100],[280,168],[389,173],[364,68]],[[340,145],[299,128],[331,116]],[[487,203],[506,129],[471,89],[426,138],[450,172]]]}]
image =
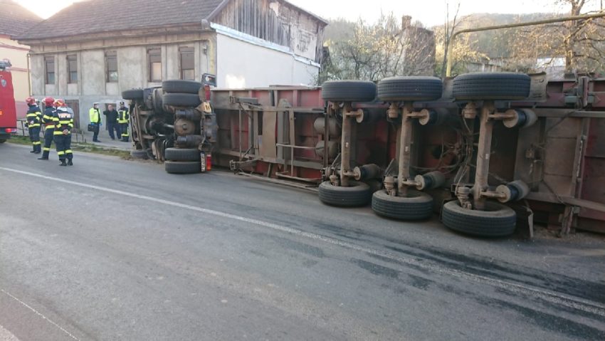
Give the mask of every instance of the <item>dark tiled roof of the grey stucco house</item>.
[{"label": "dark tiled roof of the grey stucco house", "polygon": [[[201,23],[202,19],[211,21],[229,1],[231,0],[81,1],[59,11],[18,38],[60,38],[86,33]],[[314,14],[300,10],[325,22]]]}]

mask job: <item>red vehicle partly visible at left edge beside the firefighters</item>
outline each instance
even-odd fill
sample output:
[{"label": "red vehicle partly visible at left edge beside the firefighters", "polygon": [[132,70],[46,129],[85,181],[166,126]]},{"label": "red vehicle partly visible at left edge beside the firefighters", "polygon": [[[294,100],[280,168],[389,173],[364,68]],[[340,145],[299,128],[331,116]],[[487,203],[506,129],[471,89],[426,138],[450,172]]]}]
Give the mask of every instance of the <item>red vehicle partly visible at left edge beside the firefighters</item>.
[{"label": "red vehicle partly visible at left edge beside the firefighters", "polygon": [[9,61],[0,61],[0,143],[17,131],[17,112]]}]

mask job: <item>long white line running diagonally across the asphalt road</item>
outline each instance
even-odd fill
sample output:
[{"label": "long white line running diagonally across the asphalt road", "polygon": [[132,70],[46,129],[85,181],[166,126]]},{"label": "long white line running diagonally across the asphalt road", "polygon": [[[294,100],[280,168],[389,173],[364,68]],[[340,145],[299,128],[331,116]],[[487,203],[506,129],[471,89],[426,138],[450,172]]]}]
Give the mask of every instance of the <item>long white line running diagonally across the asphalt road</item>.
[{"label": "long white line running diagonally across the asphalt road", "polygon": [[390,259],[391,261],[396,261],[396,262],[408,264],[411,266],[417,266],[419,268],[423,268],[423,269],[433,271],[436,273],[443,273],[448,276],[453,276],[456,278],[463,278],[465,280],[471,280],[475,283],[491,285],[495,288],[507,290],[512,293],[529,295],[529,296],[532,296],[535,298],[540,298],[542,300],[546,300],[549,303],[554,303],[557,305],[563,305],[568,308],[582,310],[586,313],[599,315],[599,316],[605,318],[605,305],[602,305],[602,304],[596,303],[596,302],[592,302],[589,300],[585,300],[583,298],[577,298],[577,297],[573,297],[570,295],[564,295],[562,293],[557,293],[557,292],[554,292],[551,290],[544,290],[542,288],[535,288],[530,285],[512,283],[512,282],[506,281],[506,280],[498,280],[496,278],[490,278],[488,276],[480,276],[475,273],[459,271],[459,270],[452,269],[452,268],[446,268],[443,266],[439,266],[436,263],[431,263],[431,261],[418,260],[416,258],[399,256],[399,255],[396,255],[394,253],[390,253],[387,251],[380,251],[380,250],[376,250],[373,248],[366,248],[364,246],[359,246],[357,244],[349,243],[346,241],[340,241],[338,239],[330,238],[327,236],[322,236],[320,234],[313,234],[313,233],[302,231],[302,230],[295,229],[292,227],[273,224],[268,221],[261,221],[258,219],[246,218],[245,216],[238,216],[236,214],[229,214],[226,212],[215,211],[214,209],[204,209],[199,206],[191,206],[191,205],[187,205],[187,204],[181,204],[181,203],[175,202],[175,201],[154,198],[152,196],[145,196],[145,195],[140,195],[140,194],[135,194],[135,193],[123,192],[118,189],[110,189],[110,188],[106,188],[106,187],[95,186],[92,184],[84,184],[81,182],[74,182],[74,181],[70,181],[70,180],[60,179],[60,178],[56,178],[56,177],[48,177],[46,175],[36,174],[36,173],[32,173],[32,172],[25,172],[25,171],[21,171],[19,169],[0,167],[0,170],[4,170],[6,172],[13,172],[13,173],[17,173],[17,174],[28,175],[30,177],[37,177],[37,178],[41,178],[41,179],[52,180],[53,183],[62,182],[64,184],[71,184],[73,186],[84,187],[84,188],[88,188],[88,189],[95,189],[100,192],[119,194],[120,196],[130,196],[135,199],[152,201],[152,202],[155,202],[158,204],[164,204],[164,205],[168,205],[168,206],[178,207],[180,209],[189,209],[191,211],[197,211],[197,212],[200,212],[203,214],[210,214],[210,215],[219,216],[219,217],[225,218],[225,219],[242,221],[242,222],[245,222],[248,224],[255,224],[258,226],[266,227],[268,229],[273,229],[275,231],[281,231],[281,232],[285,232],[287,234],[293,234],[295,236],[300,236],[303,238],[309,238],[309,239],[312,239],[315,241],[322,241],[324,243],[329,243],[329,244],[332,244],[335,246],[340,246],[342,248],[348,248],[350,250],[360,251],[360,252],[367,253],[370,255],[384,257],[384,258]]}]

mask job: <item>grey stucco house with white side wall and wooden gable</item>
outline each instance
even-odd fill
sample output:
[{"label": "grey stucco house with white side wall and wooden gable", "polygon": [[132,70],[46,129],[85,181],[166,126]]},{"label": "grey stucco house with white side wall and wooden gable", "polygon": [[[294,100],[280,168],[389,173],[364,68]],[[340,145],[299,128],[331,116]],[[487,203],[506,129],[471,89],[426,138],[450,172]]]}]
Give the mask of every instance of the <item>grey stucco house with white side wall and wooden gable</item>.
[{"label": "grey stucco house with white side wall and wooden gable", "polygon": [[88,108],[123,90],[216,75],[219,88],[311,84],[327,22],[284,0],[89,0],[18,37],[33,95]]}]

